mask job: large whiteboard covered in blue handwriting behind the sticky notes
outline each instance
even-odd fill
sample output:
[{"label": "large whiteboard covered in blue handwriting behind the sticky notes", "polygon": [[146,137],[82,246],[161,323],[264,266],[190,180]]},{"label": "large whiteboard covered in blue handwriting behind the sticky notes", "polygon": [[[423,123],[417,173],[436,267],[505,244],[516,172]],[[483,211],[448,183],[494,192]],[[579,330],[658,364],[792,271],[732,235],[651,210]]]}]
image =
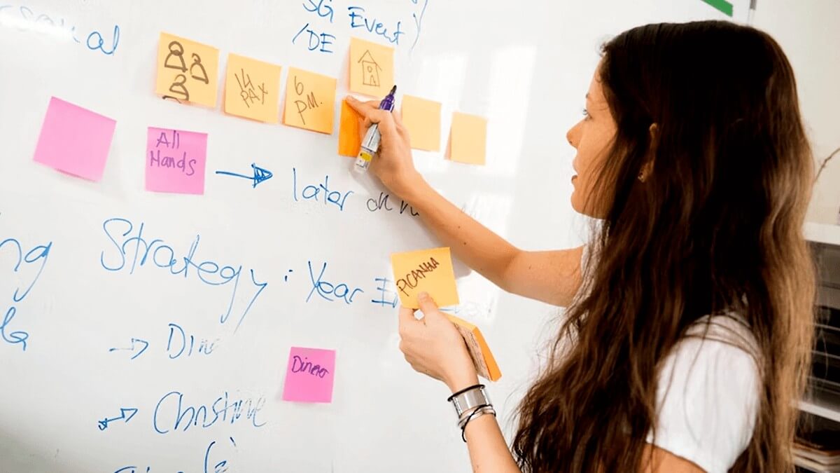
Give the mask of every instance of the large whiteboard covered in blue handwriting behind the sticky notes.
[{"label": "large whiteboard covered in blue handwriting behind the sticky notes", "polygon": [[[734,5],[745,20],[746,2]],[[4,473],[470,470],[445,386],[414,373],[397,349],[394,288],[382,281],[392,279],[391,252],[438,243],[399,199],[386,203],[386,189],[351,173],[337,134],[155,96],[161,31],[218,47],[220,71],[228,53],[251,56],[283,66],[284,89],[295,66],[337,77],[343,97],[349,38],[388,41],[354,28],[349,8],[389,34],[399,25],[399,91],[443,104],[444,144],[452,112],[489,120],[485,167],[415,151],[417,167],[492,230],[538,249],[585,236],[569,205],[574,151],[564,133],[579,118],[601,42],[648,22],[726,18],[699,0],[307,6],[0,2]],[[325,6],[333,21],[318,14]],[[334,37],[333,52],[293,42],[307,24]],[[33,161],[52,96],[117,121],[100,182]],[[205,194],[144,190],[149,126],[208,134]],[[251,163],[272,178],[254,187],[214,173],[246,173]],[[304,199],[306,186],[323,191]],[[325,201],[327,192],[344,205]],[[155,241],[192,263],[182,272],[142,263]],[[207,262],[227,268],[224,284],[202,277]],[[463,265],[456,272],[456,311],[482,329],[503,373],[490,393],[510,435],[560,312]],[[332,403],[281,400],[292,346],[337,351]],[[190,423],[202,409],[210,414]]]}]

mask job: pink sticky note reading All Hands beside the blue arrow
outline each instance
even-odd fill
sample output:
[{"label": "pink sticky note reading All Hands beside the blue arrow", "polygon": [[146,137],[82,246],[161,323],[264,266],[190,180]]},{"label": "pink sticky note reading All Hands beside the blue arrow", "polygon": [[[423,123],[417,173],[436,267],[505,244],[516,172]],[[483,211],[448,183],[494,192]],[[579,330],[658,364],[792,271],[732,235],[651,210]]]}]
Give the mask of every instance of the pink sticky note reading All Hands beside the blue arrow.
[{"label": "pink sticky note reading All Hands beside the blue arrow", "polygon": [[146,190],[204,194],[207,133],[149,127]]}]

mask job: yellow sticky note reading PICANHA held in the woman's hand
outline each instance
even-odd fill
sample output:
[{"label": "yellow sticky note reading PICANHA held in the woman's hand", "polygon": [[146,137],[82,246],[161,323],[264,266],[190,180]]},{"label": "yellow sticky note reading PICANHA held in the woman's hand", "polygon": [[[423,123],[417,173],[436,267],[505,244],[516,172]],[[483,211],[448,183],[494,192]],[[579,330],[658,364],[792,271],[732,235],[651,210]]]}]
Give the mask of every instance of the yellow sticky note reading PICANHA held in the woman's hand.
[{"label": "yellow sticky note reading PICANHA held in the woman's hand", "polygon": [[458,304],[458,288],[448,247],[391,255],[396,290],[403,306],[419,309],[417,295],[428,292],[438,306]]}]

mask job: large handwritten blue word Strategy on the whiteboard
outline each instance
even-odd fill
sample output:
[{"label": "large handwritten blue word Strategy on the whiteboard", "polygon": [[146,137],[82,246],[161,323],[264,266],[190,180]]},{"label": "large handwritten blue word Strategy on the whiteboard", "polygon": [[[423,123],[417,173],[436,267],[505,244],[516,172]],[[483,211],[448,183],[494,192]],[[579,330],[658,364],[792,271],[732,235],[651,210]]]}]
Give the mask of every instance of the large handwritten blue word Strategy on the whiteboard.
[{"label": "large handwritten blue word Strategy on the whiteboard", "polygon": [[[134,232],[134,224],[123,218],[111,218],[102,222],[102,230],[105,231],[105,235],[108,236],[108,239],[113,243],[113,247],[116,248],[117,252],[115,258],[109,256],[106,259],[104,250],[99,256],[99,263],[102,264],[102,268],[105,268],[108,271],[120,271],[123,268],[126,268],[126,263],[129,263],[129,261],[126,260],[126,256],[131,255],[129,256],[129,274],[134,274],[135,269],[142,268],[146,263],[150,262],[154,264],[156,268],[168,269],[168,273],[173,276],[182,274],[184,279],[186,279],[190,273],[190,268],[195,268],[197,278],[201,280],[202,283],[211,286],[222,286],[233,282],[234,290],[230,295],[228,311],[219,317],[219,323],[223,324],[228,321],[228,317],[234,308],[236,292],[239,290],[239,277],[242,274],[241,264],[235,268],[234,266],[220,267],[219,263],[210,259],[207,259],[202,263],[196,263],[195,255],[198,251],[198,243],[201,241],[200,235],[196,235],[195,240],[193,240],[190,245],[189,252],[187,252],[185,257],[181,258],[182,263],[180,263],[179,260],[175,258],[175,250],[173,250],[171,246],[165,244],[162,239],[155,238],[150,242],[146,241],[143,237],[143,222],[140,222],[140,225],[137,227],[136,234],[134,235],[132,235]],[[129,235],[132,236],[129,237]],[[179,265],[180,268],[178,268]],[[260,296],[260,293],[262,293],[268,285],[267,282],[257,282],[254,275],[254,269],[250,269],[249,271],[251,275],[251,284],[253,284],[256,289],[254,296],[251,297],[251,300],[248,303],[248,306],[245,307],[244,311],[239,316],[239,321],[236,323],[234,333],[239,330],[239,326],[242,324],[245,316],[248,315],[248,311],[251,306],[254,305],[257,297]]]}]

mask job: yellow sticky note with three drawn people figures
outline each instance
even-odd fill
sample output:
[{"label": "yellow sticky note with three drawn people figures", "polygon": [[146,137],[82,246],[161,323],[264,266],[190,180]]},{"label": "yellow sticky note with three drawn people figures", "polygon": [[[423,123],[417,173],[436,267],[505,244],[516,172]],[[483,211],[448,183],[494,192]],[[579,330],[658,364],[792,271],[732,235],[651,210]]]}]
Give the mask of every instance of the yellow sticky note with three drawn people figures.
[{"label": "yellow sticky note with three drawn people figures", "polygon": [[216,106],[218,49],[160,33],[155,93],[193,104]]}]

